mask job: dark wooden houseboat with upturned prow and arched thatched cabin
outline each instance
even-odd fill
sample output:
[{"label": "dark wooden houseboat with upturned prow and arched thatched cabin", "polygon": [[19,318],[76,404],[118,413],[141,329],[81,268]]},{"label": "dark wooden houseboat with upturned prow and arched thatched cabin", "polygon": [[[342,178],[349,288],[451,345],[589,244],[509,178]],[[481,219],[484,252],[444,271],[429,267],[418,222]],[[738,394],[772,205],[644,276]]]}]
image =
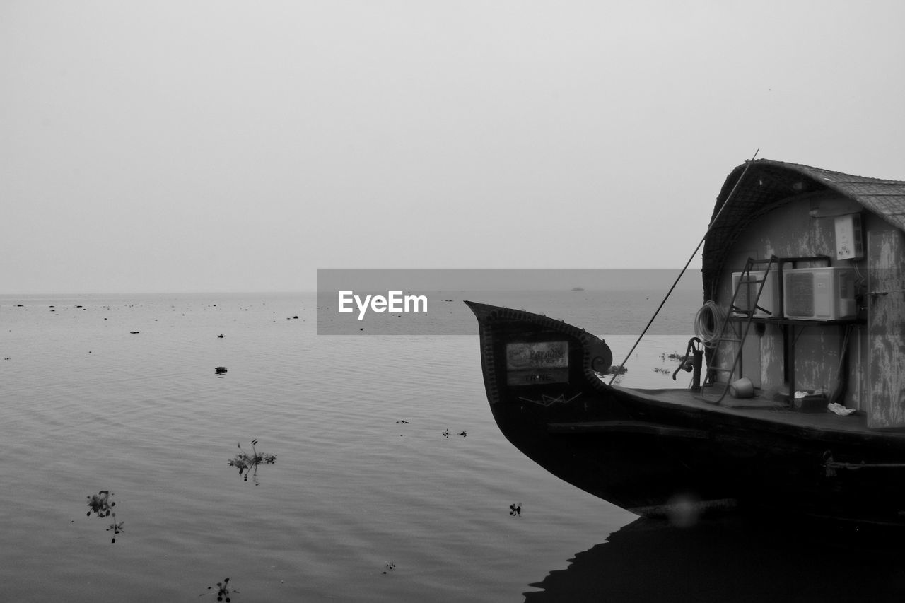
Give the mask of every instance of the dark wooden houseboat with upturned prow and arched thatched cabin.
[{"label": "dark wooden houseboat with upturned prow and arched thatched cabin", "polygon": [[903,231],[905,182],[746,161],[703,240],[691,387],[621,387],[605,340],[466,302],[493,416],[550,473],[643,516],[905,525]]}]

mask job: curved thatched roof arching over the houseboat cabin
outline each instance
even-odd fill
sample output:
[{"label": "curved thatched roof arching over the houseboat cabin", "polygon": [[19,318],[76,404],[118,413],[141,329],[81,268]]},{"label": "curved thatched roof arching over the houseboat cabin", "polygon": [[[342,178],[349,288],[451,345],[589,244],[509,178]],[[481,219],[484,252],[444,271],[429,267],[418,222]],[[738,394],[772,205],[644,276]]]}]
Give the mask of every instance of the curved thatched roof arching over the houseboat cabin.
[{"label": "curved thatched roof arching over the houseboat cabin", "polygon": [[[745,172],[745,167],[748,171]],[[738,182],[744,172],[745,177]],[[732,193],[738,182],[738,188]],[[726,251],[738,234],[758,216],[781,206],[796,195],[816,191],[835,191],[865,209],[879,215],[891,225],[905,231],[905,182],[852,176],[829,169],[811,168],[785,161],[757,159],[732,170],[722,190],[710,220],[719,219],[707,235],[703,254],[705,297],[712,297],[726,259]],[[720,208],[729,198],[729,205]]]}]

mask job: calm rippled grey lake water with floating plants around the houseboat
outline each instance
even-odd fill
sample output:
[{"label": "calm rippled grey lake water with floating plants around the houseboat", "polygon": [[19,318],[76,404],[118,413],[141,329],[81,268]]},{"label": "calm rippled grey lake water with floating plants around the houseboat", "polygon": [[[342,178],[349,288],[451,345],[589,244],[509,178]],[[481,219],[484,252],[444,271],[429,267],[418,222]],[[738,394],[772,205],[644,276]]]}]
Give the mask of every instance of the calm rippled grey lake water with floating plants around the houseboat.
[{"label": "calm rippled grey lake water with floating plants around the houseboat", "polygon": [[[463,321],[462,299],[542,311],[604,336],[621,361],[658,295],[451,293],[450,308]],[[316,303],[0,297],[0,599],[214,601],[227,577],[239,603],[903,592],[899,553],[636,521],[500,435],[476,324],[468,336],[318,336]],[[684,351],[699,306],[680,295],[664,311],[624,385],[675,385],[663,355]],[[254,439],[277,459],[246,481],[227,462]],[[119,534],[112,514],[86,516],[100,491]]]}]

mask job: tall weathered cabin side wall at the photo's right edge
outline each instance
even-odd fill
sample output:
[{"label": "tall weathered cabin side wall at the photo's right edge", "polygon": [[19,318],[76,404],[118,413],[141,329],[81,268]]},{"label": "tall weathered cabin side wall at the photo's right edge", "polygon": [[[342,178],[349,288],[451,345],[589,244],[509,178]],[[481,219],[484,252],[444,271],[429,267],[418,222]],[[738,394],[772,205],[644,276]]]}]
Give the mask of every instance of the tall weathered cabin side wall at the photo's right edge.
[{"label": "tall weathered cabin side wall at the photo's right edge", "polygon": [[871,400],[867,425],[901,427],[905,426],[905,236],[879,219],[876,222],[867,237]]}]

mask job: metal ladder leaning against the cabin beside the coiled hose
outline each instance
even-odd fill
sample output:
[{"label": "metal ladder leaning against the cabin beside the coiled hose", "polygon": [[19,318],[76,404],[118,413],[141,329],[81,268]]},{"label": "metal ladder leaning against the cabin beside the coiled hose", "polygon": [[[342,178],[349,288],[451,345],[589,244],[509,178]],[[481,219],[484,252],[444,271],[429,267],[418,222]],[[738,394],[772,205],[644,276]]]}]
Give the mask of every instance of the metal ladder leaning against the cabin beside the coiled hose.
[{"label": "metal ladder leaning against the cabin beside the coiled hose", "polygon": [[[755,277],[751,274],[751,270],[760,264],[767,264],[767,267],[764,269],[764,274],[762,277]],[[735,358],[732,360],[732,366],[729,369],[723,369],[720,367],[708,367],[707,368],[707,378],[705,378],[704,386],[713,386],[714,385],[714,377],[716,373],[727,373],[728,377],[726,379],[726,385],[723,387],[722,392],[719,394],[717,399],[709,399],[705,396],[705,388],[700,389],[700,398],[705,402],[710,402],[710,404],[719,404],[724,397],[726,397],[726,393],[729,391],[729,381],[732,379],[732,373],[738,369],[739,364],[741,362],[741,351],[744,346],[745,340],[748,338],[748,330],[751,328],[751,322],[754,319],[754,314],[758,310],[766,312],[767,314],[772,314],[771,311],[767,310],[767,308],[763,308],[757,305],[760,302],[760,295],[764,292],[764,285],[767,282],[767,276],[770,274],[770,270],[774,268],[774,265],[778,265],[780,263],[779,258],[776,255],[771,255],[767,260],[755,260],[753,258],[748,258],[748,262],[745,263],[745,268],[742,270],[739,278],[738,285],[736,285],[735,291],[732,292],[732,300],[729,302],[729,311],[726,312],[726,316],[723,317],[722,324],[719,325],[719,335],[714,339],[710,340],[706,346],[711,349],[710,358],[712,359],[714,356],[719,355],[720,346],[724,344],[738,344],[738,350],[736,350]],[[751,299],[751,290],[753,287],[751,285],[757,284],[757,295],[754,296],[754,299]],[[738,292],[741,291],[742,288],[746,289],[747,297],[748,297],[748,307],[747,308],[739,308],[736,305],[738,301]],[[739,312],[745,314],[745,321],[743,324],[738,324],[738,321],[733,320],[733,313],[738,314]]]}]

